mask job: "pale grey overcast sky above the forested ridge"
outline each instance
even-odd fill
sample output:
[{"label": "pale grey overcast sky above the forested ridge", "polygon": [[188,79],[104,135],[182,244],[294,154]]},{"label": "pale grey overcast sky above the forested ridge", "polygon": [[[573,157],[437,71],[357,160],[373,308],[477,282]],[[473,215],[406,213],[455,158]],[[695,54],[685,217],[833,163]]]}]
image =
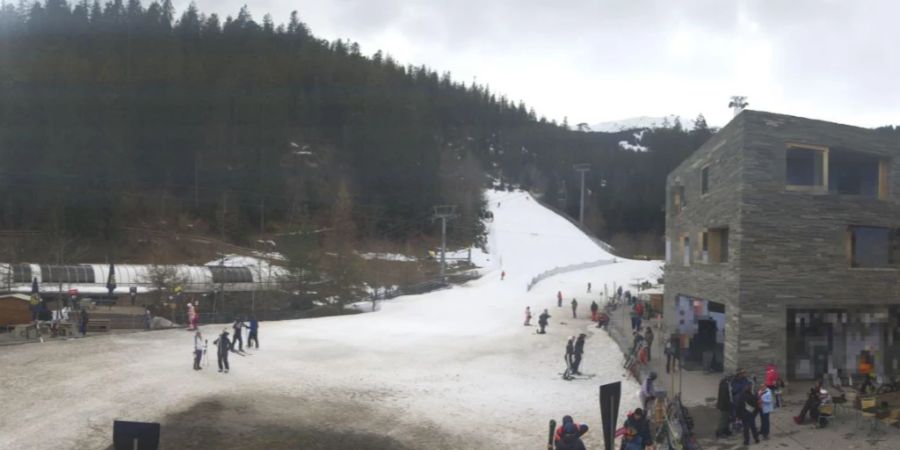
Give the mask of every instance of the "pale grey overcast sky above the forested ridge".
[{"label": "pale grey overcast sky above the forested ridge", "polygon": [[[176,1],[178,14],[189,1]],[[900,124],[900,3],[832,0],[196,0],[450,71],[570,124],[751,109]]]}]

